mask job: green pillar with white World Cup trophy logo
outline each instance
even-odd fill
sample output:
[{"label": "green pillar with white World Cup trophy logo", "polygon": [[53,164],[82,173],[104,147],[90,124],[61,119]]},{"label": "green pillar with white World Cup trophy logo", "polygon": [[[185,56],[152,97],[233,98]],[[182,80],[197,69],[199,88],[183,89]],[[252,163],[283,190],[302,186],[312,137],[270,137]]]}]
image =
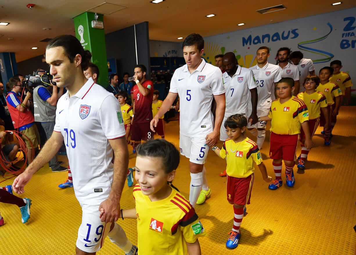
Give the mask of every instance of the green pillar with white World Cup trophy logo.
[{"label": "green pillar with white World Cup trophy logo", "polygon": [[[98,14],[98,21],[103,21],[103,15]],[[74,17],[75,37],[80,41],[85,50],[91,52],[91,62],[99,67],[98,84],[104,88],[108,86],[108,61],[106,59],[106,46],[104,29],[91,27],[95,20],[95,13],[84,12]]]}]

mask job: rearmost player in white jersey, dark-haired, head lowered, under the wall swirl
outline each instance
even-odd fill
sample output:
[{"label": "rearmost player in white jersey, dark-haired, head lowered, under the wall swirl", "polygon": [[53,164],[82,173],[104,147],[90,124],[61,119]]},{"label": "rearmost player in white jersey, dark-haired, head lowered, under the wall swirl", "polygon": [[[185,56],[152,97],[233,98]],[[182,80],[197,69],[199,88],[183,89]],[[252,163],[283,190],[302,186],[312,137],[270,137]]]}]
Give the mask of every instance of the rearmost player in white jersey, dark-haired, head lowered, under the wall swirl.
[{"label": "rearmost player in white jersey, dark-haired, head lowered, under the wall swirl", "polygon": [[[290,53],[290,60],[295,66],[298,66],[299,70],[299,81],[304,82],[305,77],[308,75],[315,75],[315,68],[313,65],[313,60],[309,58],[303,58],[304,55],[300,51],[293,51]],[[303,86],[299,87],[299,92],[305,91]],[[297,96],[297,93],[294,93]]]}]

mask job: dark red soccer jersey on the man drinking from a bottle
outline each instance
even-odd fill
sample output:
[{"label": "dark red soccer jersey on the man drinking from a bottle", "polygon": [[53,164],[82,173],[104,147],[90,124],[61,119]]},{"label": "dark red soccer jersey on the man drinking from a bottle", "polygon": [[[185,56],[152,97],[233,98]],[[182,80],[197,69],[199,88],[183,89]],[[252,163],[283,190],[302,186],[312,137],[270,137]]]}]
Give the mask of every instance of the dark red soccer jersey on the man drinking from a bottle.
[{"label": "dark red soccer jersey on the man drinking from a bottle", "polygon": [[150,91],[150,94],[143,96],[138,90],[137,84],[133,86],[132,99],[135,100],[135,116],[133,122],[142,123],[150,122],[152,120],[152,101],[153,101],[153,82],[145,80],[142,86]]}]

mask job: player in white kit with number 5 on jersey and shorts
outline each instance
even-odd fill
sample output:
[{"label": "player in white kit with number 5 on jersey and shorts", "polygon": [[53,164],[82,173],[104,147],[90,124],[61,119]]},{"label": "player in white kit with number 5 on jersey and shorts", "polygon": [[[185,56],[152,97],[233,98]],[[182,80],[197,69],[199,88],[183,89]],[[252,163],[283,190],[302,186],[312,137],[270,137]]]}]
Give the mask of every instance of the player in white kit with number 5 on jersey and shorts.
[{"label": "player in white kit with number 5 on jersey and shorts", "polygon": [[[189,158],[190,193],[193,206],[202,204],[210,197],[211,190],[204,167],[209,147],[219,139],[220,126],[225,112],[225,88],[219,67],[206,63],[204,39],[198,34],[188,35],[183,42],[186,65],[177,68],[171,80],[171,88],[161,109],[151,121],[155,130],[158,118],[172,106],[177,94],[180,98],[180,153]],[[211,102],[216,101],[215,124]],[[213,126],[214,125],[214,126]]]}]

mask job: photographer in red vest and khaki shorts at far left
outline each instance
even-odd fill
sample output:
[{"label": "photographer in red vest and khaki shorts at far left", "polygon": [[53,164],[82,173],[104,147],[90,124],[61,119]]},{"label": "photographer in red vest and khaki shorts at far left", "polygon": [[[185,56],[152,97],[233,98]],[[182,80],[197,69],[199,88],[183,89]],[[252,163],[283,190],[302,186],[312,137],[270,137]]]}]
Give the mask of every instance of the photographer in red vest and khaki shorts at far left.
[{"label": "photographer in red vest and khaki shorts at far left", "polygon": [[29,91],[26,92],[25,99],[23,102],[21,102],[19,96],[19,93],[22,91],[20,80],[16,78],[10,78],[9,87],[11,88],[11,91],[9,94],[7,94],[6,97],[7,107],[9,109],[14,128],[18,128],[19,131],[27,136],[31,141],[28,141],[26,138],[24,139],[27,147],[27,163],[30,164],[32,162],[31,143],[33,148],[37,148],[40,139],[40,135],[38,134],[38,130],[35,125],[35,119],[33,118],[32,112],[28,108],[30,106],[28,99],[32,96],[32,94]]}]

